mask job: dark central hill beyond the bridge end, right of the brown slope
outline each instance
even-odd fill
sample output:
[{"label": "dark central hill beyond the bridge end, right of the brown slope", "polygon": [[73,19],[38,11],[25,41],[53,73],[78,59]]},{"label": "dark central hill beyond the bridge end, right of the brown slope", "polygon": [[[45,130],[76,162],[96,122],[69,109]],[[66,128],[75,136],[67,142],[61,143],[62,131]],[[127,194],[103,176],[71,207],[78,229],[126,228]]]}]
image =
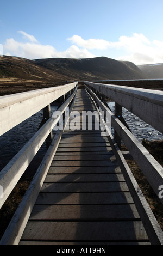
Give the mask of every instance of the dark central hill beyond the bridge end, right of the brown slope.
[{"label": "dark central hill beyond the bridge end, right of the brown slope", "polygon": [[118,62],[106,57],[37,59],[37,65],[67,75],[68,80],[143,79],[147,75],[131,62]]}]

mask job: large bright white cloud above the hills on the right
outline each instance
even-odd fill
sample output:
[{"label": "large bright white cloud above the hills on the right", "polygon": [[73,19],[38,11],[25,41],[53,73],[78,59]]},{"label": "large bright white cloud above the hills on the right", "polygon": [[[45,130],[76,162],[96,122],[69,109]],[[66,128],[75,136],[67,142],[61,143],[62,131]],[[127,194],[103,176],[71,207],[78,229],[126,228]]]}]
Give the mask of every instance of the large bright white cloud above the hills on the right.
[{"label": "large bright white cloud above the hills on the right", "polygon": [[[110,50],[115,52],[118,50],[118,52],[123,52],[123,55],[121,56],[121,53],[116,58],[117,60],[128,60],[136,65],[163,63],[163,42],[158,40],[149,41],[142,33],[134,33],[133,36],[123,35],[115,42],[101,39],[84,40],[79,35],[73,35],[68,40],[87,49],[106,50],[106,57],[110,57],[108,56]],[[100,52],[98,52],[98,56],[100,56]]]}]

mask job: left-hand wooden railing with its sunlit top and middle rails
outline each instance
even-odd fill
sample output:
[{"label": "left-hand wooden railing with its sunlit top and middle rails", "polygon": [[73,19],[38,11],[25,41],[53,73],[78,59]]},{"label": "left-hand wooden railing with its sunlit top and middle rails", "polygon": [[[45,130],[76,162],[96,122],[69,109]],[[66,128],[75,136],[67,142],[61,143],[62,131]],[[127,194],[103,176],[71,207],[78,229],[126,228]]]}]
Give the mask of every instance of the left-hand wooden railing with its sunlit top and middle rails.
[{"label": "left-hand wooden railing with its sunlit top and middle rails", "polygon": [[24,171],[33,160],[41,145],[48,136],[52,135],[52,130],[59,121],[50,117],[50,104],[61,96],[68,95],[68,99],[58,109],[61,114],[65,112],[67,106],[76,95],[78,82],[65,84],[64,86],[51,87],[30,92],[17,93],[0,97],[0,136],[9,131],[22,121],[43,109],[45,124],[35,133],[35,135],[18,151],[11,161],[0,172],[0,208],[8,198],[9,194],[20,180]]}]

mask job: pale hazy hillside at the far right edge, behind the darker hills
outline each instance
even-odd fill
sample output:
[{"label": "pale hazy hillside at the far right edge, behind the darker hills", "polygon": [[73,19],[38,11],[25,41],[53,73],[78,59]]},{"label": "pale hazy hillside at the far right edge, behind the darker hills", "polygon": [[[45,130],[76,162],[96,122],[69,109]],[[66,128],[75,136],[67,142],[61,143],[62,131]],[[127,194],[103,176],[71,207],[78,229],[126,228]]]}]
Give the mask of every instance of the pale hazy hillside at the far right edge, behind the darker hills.
[{"label": "pale hazy hillside at the far right edge, behind the darker hills", "polygon": [[147,64],[139,65],[138,68],[141,69],[149,78],[152,79],[163,79],[163,64]]}]

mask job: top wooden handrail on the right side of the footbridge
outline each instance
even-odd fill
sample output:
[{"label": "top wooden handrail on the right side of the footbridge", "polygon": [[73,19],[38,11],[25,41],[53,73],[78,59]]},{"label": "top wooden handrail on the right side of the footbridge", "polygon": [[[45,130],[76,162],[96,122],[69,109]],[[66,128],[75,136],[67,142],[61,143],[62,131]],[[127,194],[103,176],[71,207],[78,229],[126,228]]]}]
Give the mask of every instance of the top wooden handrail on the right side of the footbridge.
[{"label": "top wooden handrail on the right side of the footbridge", "polygon": [[111,98],[163,133],[163,92],[91,82],[85,84]]}]

